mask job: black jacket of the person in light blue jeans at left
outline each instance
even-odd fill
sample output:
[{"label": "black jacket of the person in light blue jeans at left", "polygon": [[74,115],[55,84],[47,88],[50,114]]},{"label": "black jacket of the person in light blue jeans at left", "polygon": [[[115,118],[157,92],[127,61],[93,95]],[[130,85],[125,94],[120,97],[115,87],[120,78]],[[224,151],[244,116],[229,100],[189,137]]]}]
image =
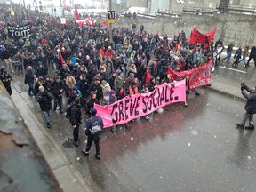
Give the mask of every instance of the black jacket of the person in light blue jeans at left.
[{"label": "black jacket of the person in light blue jeans at left", "polygon": [[50,111],[52,109],[52,99],[51,92],[39,92],[36,95],[36,101],[39,103],[42,111]]}]

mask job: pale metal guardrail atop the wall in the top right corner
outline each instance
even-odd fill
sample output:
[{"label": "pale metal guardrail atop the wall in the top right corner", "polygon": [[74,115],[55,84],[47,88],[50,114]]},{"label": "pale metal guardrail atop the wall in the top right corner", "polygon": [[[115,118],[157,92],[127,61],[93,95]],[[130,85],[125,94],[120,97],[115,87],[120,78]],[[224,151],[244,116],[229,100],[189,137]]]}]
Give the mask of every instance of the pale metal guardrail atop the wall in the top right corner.
[{"label": "pale metal guardrail atop the wall in the top right corner", "polygon": [[[216,9],[220,12],[224,11],[220,7],[220,4],[216,4]],[[229,13],[243,13],[243,14],[251,14],[256,15],[256,6],[249,5],[228,5],[227,11]]]}]

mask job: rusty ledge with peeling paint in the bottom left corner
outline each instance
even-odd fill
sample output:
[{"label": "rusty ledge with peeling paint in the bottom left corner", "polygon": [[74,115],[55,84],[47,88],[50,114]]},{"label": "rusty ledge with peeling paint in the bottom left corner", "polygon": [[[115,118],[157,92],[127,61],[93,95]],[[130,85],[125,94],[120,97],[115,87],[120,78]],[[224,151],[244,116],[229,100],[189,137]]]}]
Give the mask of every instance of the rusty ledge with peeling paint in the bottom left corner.
[{"label": "rusty ledge with peeling paint in the bottom left corner", "polygon": [[49,164],[0,81],[0,192],[61,192]]}]

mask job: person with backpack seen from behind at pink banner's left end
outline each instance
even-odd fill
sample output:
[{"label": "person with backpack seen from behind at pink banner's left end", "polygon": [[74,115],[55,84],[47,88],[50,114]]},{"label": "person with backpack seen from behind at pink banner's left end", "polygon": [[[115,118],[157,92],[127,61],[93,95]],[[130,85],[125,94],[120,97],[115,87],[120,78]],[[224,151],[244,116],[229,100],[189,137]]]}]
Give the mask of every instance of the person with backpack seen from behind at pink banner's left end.
[{"label": "person with backpack seen from behind at pink banner's left end", "polygon": [[96,108],[91,108],[91,117],[86,122],[85,135],[87,135],[87,145],[82,152],[85,156],[89,155],[89,151],[94,141],[96,147],[95,157],[100,160],[100,134],[103,131],[103,121],[100,116],[96,116]]}]

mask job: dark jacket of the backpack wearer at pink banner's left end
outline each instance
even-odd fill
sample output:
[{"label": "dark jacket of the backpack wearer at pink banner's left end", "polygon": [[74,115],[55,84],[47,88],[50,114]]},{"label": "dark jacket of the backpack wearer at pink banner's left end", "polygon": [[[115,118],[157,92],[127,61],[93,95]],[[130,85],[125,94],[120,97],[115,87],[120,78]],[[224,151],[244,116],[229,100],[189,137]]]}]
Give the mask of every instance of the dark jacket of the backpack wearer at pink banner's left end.
[{"label": "dark jacket of the backpack wearer at pink banner's left end", "polygon": [[94,139],[100,139],[103,131],[103,121],[100,116],[91,116],[86,122],[85,135],[93,136]]}]

